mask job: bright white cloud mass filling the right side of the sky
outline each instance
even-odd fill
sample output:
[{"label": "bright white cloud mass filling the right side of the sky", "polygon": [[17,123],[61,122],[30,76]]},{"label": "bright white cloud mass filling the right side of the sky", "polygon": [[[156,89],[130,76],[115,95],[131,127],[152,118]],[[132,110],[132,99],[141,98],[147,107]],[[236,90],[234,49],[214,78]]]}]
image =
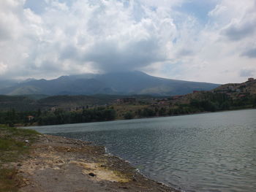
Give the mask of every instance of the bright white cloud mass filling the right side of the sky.
[{"label": "bright white cloud mass filling the right side of the sky", "polygon": [[[178,45],[181,46],[178,53],[183,58],[159,66],[155,74],[174,75],[184,80],[243,82],[246,77],[240,75],[241,69],[250,69],[250,72],[256,69],[255,8],[255,1],[221,1],[208,13],[210,18],[205,26],[195,23],[189,28],[184,23],[178,31],[187,33]],[[227,29],[230,31],[225,34],[223,31]]]}]

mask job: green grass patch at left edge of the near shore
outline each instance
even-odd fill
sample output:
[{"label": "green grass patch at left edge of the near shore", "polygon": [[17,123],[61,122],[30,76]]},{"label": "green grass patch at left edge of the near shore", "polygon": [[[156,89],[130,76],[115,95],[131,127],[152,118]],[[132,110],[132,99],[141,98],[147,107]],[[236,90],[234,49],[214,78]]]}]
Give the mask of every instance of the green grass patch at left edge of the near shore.
[{"label": "green grass patch at left edge of the near shore", "polygon": [[38,134],[29,129],[0,126],[0,192],[18,191],[22,178],[10,163],[17,163],[29,153],[29,147]]}]

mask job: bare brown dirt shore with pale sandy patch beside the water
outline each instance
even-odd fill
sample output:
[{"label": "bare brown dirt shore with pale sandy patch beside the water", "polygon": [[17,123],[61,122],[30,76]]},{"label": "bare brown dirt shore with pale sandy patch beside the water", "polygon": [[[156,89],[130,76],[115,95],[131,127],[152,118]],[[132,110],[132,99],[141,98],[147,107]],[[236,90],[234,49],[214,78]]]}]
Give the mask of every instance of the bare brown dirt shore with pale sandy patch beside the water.
[{"label": "bare brown dirt shore with pale sandy patch beside the water", "polygon": [[39,135],[31,153],[18,162],[21,192],[173,191],[143,177],[105,148],[75,139]]}]

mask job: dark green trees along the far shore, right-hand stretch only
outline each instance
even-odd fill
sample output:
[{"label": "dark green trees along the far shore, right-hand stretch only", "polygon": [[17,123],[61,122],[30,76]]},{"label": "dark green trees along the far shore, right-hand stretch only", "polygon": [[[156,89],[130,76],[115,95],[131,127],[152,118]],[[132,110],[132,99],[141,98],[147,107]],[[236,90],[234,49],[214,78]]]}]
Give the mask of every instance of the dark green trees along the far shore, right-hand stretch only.
[{"label": "dark green trees along the far shore, right-hand stretch only", "polygon": [[172,107],[146,107],[135,112],[124,114],[125,119],[147,118],[155,116],[170,116],[193,114],[197,112],[216,112],[222,110],[238,110],[256,107],[256,96],[244,95],[238,99],[232,99],[225,93],[201,93],[197,99],[191,99],[188,104],[175,104]]}]

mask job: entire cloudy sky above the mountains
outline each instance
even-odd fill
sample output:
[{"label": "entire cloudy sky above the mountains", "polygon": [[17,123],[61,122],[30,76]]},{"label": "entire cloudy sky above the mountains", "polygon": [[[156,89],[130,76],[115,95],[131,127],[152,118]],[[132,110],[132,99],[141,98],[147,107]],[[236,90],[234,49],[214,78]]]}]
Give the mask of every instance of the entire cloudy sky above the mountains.
[{"label": "entire cloudy sky above the mountains", "polygon": [[1,0],[0,79],[256,77],[256,0]]}]

